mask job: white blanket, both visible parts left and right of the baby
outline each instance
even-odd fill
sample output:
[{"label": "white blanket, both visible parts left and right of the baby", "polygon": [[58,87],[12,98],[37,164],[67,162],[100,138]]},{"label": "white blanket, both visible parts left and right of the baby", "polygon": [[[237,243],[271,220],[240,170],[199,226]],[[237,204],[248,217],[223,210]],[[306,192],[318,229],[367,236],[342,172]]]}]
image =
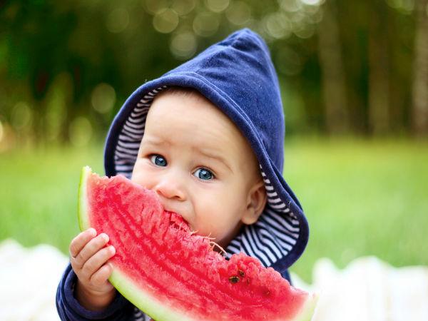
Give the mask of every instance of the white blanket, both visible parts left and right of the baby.
[{"label": "white blanket, both visible parts left and right of the baby", "polygon": [[[0,321],[58,320],[56,287],[68,258],[50,245],[23,248],[0,243]],[[344,270],[328,259],[315,264],[313,284],[292,275],[295,286],[319,294],[312,321],[427,321],[428,267],[395,268],[359,258]]]}]

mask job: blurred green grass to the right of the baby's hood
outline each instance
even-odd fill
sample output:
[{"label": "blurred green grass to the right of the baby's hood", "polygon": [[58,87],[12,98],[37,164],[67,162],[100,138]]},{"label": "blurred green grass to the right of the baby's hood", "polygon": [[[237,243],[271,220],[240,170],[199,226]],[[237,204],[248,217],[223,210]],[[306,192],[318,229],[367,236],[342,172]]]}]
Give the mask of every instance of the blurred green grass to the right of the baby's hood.
[{"label": "blurred green grass to the right of the baby's hood", "polygon": [[362,255],[394,266],[428,265],[428,144],[291,141],[285,177],[310,222],[292,267],[310,280],[315,260],[339,267]]}]

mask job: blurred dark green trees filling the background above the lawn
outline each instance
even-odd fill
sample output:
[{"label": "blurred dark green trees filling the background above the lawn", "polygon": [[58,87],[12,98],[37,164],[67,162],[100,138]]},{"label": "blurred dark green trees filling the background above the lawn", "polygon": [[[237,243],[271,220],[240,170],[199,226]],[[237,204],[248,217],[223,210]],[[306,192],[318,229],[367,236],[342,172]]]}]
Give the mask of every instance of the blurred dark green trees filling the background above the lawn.
[{"label": "blurred dark green trees filling the background above the lawn", "polygon": [[424,136],[427,4],[1,1],[1,146],[99,138],[141,83],[243,27],[270,46],[288,133]]}]

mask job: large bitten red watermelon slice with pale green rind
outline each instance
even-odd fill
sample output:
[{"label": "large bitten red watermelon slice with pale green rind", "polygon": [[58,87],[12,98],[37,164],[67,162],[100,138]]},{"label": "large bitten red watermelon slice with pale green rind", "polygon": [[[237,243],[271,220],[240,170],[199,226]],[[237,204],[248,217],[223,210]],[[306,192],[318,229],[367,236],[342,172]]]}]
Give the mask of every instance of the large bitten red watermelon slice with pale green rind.
[{"label": "large bitten red watermelon slice with pale green rind", "polygon": [[118,175],[82,170],[81,230],[95,228],[116,248],[110,282],[157,321],[310,320],[315,296],[240,253],[226,260],[195,235],[156,193]]}]

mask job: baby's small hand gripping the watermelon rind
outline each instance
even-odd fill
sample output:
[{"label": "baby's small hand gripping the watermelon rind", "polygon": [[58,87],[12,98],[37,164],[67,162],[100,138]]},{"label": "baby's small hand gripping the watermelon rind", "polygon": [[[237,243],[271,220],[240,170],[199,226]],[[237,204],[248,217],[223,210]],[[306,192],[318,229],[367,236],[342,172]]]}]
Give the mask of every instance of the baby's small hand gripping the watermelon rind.
[{"label": "baby's small hand gripping the watermelon rind", "polygon": [[111,265],[107,263],[116,250],[104,247],[108,235],[89,228],[78,234],[70,243],[71,267],[78,277],[75,288],[78,302],[88,310],[103,310],[116,295],[113,285],[108,282]]}]

